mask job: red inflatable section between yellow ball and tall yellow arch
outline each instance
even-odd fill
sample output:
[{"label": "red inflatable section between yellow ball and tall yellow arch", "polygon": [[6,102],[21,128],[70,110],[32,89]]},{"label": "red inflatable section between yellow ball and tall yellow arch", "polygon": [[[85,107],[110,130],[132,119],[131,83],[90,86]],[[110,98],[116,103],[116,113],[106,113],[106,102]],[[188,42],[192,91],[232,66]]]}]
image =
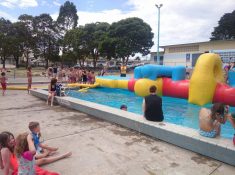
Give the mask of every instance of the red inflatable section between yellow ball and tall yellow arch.
[{"label": "red inflatable section between yellow ball and tall yellow arch", "polygon": [[171,78],[163,78],[163,96],[188,99],[189,80],[172,81]]}]

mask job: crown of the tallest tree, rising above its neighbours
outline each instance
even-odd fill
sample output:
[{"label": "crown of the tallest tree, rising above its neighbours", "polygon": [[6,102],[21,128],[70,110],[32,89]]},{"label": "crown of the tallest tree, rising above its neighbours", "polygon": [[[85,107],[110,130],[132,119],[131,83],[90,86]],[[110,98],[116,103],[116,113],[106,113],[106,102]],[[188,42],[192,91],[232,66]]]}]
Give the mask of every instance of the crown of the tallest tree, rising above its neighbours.
[{"label": "crown of the tallest tree, rising above its neighbours", "polygon": [[61,36],[64,36],[67,31],[75,29],[75,27],[77,27],[77,9],[72,2],[66,1],[64,5],[60,7],[59,16],[56,23]]}]

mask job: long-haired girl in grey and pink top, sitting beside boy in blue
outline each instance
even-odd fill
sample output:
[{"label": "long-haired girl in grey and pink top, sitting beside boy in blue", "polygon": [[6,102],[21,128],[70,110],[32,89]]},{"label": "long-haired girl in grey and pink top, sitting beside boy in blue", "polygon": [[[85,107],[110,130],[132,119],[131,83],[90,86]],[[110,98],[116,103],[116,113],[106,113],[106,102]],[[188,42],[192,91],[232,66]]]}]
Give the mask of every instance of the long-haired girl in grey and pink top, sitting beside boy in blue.
[{"label": "long-haired girl in grey and pink top, sitting beside boy in blue", "polygon": [[36,150],[33,145],[28,144],[28,133],[18,135],[16,138],[15,153],[18,158],[18,174],[35,175],[35,161],[34,156]]}]

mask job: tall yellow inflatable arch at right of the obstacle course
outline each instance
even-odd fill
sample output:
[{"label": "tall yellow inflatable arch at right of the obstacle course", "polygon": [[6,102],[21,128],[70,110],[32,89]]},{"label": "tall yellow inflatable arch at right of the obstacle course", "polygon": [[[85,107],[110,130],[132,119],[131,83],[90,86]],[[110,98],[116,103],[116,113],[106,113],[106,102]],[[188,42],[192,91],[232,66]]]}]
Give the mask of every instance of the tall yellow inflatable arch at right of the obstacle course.
[{"label": "tall yellow inflatable arch at right of the obstacle course", "polygon": [[216,84],[224,82],[222,61],[219,55],[201,55],[189,82],[189,103],[205,105],[211,103]]}]

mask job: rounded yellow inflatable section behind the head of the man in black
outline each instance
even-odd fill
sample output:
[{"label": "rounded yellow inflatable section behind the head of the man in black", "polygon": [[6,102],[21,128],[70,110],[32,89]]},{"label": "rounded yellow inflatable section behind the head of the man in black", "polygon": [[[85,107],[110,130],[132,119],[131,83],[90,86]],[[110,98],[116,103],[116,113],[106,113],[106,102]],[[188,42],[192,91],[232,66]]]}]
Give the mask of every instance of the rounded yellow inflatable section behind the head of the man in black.
[{"label": "rounded yellow inflatable section behind the head of the man in black", "polygon": [[134,87],[136,95],[141,97],[149,95],[149,88],[153,85],[157,87],[157,94],[162,96],[162,78],[158,78],[156,81],[147,78],[137,80]]}]

